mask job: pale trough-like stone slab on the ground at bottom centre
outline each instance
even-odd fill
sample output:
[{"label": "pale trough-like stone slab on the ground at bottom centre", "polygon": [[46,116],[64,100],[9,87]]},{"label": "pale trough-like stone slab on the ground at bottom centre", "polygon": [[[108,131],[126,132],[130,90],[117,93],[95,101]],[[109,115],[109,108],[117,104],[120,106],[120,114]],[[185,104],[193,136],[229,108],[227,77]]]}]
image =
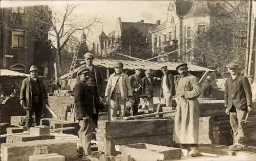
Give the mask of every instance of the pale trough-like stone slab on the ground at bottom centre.
[{"label": "pale trough-like stone slab on the ground at bottom centre", "polygon": [[138,143],[121,146],[116,145],[115,148],[122,154],[131,155],[136,161],[155,161],[181,158],[181,150],[173,147]]}]

